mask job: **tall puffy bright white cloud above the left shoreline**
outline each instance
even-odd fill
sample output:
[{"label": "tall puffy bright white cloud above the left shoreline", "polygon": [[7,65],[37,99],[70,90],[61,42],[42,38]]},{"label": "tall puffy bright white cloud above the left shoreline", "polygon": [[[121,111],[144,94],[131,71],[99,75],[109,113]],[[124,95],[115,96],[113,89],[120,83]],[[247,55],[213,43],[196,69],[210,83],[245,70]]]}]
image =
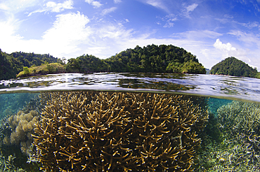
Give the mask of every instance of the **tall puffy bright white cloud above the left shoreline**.
[{"label": "tall puffy bright white cloud above the left shoreline", "polygon": [[87,42],[88,36],[92,33],[91,29],[86,27],[86,24],[89,23],[88,17],[79,12],[57,15],[56,17],[53,27],[42,36],[42,41],[51,52],[64,54],[76,52],[77,45],[83,41]]}]

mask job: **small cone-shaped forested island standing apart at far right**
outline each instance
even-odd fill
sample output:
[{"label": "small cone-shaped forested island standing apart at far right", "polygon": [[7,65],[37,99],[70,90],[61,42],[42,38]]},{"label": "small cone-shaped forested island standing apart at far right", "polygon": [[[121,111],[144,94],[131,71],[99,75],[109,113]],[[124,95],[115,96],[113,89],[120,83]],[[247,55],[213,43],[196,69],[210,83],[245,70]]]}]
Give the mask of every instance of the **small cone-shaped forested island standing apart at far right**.
[{"label": "small cone-shaped forested island standing apart at far right", "polygon": [[210,74],[259,78],[256,69],[235,57],[228,57],[215,64],[210,70]]}]

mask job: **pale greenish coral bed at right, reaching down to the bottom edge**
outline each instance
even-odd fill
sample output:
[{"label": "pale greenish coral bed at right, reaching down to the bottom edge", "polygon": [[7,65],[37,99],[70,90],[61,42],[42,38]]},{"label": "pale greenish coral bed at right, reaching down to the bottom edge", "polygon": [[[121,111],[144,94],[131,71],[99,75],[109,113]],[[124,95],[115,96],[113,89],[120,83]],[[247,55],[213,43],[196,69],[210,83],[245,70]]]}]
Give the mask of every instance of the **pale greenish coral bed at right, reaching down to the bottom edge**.
[{"label": "pale greenish coral bed at right, reaching down to the bottom edge", "polygon": [[260,105],[232,101],[217,110],[221,143],[204,140],[201,171],[260,171]]}]

